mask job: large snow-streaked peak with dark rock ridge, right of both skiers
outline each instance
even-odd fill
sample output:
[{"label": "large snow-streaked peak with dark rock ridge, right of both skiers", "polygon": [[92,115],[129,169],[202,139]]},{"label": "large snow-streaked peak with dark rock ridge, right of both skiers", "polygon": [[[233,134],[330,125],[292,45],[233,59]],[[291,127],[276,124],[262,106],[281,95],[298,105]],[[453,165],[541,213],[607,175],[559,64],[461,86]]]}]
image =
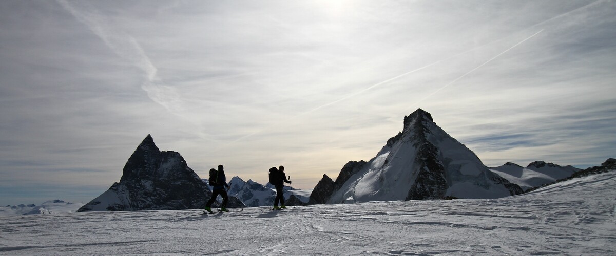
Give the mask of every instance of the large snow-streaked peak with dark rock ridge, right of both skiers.
[{"label": "large snow-streaked peak with dark rock ridge, right of both skiers", "polygon": [[333,184],[323,176],[310,203],[500,198],[520,193],[518,185],[490,172],[475,153],[418,109],[404,117],[403,131],[387,140],[375,158],[347,163]]}]

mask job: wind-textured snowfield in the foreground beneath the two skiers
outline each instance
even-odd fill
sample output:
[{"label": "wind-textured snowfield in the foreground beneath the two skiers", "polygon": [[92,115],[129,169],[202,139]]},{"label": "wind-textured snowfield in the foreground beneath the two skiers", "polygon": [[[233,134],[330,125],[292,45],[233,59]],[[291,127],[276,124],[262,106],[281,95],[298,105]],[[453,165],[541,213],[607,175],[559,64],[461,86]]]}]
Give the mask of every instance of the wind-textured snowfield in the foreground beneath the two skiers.
[{"label": "wind-textured snowfield in the foreground beneath the two skiers", "polygon": [[501,199],[3,216],[0,255],[614,255],[615,184],[613,171]]}]

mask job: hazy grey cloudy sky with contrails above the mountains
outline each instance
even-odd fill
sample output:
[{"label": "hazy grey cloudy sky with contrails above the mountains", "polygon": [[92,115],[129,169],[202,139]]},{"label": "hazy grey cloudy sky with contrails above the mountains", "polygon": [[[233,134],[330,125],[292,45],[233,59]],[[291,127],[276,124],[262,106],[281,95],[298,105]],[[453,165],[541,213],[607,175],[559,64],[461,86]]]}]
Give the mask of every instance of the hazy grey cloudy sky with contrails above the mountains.
[{"label": "hazy grey cloudy sky with contrails above the mountains", "polygon": [[87,203],[148,134],[312,189],[418,108],[487,166],[597,166],[615,57],[615,1],[0,1],[0,205]]}]

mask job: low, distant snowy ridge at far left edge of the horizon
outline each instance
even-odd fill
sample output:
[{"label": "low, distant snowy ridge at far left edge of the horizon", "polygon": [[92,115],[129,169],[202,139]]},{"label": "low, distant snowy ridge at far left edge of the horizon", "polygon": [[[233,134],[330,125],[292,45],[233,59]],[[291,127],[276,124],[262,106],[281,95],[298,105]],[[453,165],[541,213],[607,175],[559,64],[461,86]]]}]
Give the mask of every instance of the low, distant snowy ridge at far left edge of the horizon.
[{"label": "low, distant snowy ridge at far left edge of the horizon", "polygon": [[0,215],[22,215],[22,214],[68,214],[77,212],[84,203],[67,203],[62,200],[50,200],[41,205],[20,204],[17,206],[0,207]]}]

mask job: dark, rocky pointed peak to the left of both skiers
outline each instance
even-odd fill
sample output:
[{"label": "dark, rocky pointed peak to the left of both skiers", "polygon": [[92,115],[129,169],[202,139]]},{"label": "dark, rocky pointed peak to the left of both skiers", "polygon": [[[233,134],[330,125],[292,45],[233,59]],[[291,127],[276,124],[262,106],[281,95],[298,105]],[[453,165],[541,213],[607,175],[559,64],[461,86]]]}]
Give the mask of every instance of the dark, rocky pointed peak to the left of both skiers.
[{"label": "dark, rocky pointed peak to the left of both skiers", "polygon": [[201,209],[211,195],[182,155],[161,152],[148,134],[124,165],[120,182],[78,212]]}]

